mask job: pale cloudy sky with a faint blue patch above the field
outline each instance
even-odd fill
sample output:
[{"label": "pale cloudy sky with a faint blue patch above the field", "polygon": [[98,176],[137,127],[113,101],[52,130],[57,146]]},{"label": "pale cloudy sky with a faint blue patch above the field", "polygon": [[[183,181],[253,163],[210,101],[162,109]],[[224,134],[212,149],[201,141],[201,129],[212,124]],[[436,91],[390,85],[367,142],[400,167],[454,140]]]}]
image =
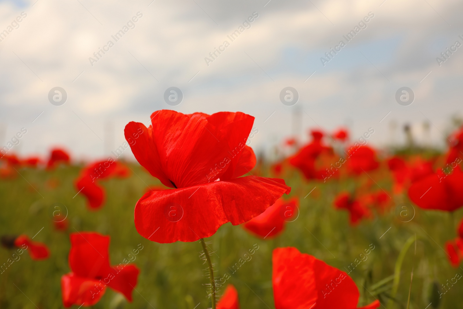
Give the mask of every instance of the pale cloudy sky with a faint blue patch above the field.
[{"label": "pale cloudy sky with a faint blue patch above the field", "polygon": [[[12,150],[22,155],[62,145],[74,158],[107,157],[126,123],[159,109],[251,114],[257,151],[318,126],[348,126],[353,139],[372,127],[381,147],[391,123],[398,142],[410,123],[422,140],[428,120],[443,145],[463,110],[461,1],[35,1],[0,0],[0,142],[25,127]],[[54,87],[67,93],[61,106],[49,101]],[[169,87],[183,93],[178,106],[164,101]],[[280,101],[285,87],[299,94],[294,106]],[[413,90],[409,106],[395,99],[401,87]]]}]

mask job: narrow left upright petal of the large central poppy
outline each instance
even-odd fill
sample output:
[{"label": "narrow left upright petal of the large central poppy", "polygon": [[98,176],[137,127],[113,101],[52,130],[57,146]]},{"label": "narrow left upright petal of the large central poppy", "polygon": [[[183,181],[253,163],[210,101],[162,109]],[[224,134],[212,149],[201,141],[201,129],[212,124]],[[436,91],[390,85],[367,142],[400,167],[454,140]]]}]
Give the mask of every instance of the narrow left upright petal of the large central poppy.
[{"label": "narrow left upright petal of the large central poppy", "polygon": [[[156,114],[153,113],[151,117],[153,115]],[[159,179],[163,185],[173,188],[174,186],[161,167],[151,127],[147,128],[143,123],[131,121],[125,126],[124,134],[138,163],[148,170],[151,176]]]}]

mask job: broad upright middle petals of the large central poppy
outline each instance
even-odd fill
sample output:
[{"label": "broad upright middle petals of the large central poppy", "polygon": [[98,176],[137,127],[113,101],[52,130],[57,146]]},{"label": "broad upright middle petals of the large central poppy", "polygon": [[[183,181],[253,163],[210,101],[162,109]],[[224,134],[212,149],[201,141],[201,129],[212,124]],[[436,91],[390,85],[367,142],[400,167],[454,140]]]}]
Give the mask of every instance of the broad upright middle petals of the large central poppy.
[{"label": "broad upright middle petals of the large central poppy", "polygon": [[254,117],[239,112],[188,116],[162,110],[151,121],[164,172],[177,188],[185,188],[216,180],[227,162],[238,159]]}]

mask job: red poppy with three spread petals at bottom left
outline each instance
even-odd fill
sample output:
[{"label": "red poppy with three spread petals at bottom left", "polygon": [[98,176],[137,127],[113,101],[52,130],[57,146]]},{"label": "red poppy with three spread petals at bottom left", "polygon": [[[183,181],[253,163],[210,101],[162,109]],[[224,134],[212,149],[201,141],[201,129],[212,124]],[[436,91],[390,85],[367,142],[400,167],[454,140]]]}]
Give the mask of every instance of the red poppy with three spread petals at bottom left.
[{"label": "red poppy with three spread petals at bottom left", "polygon": [[106,291],[106,286],[122,293],[129,302],[137,285],[137,266],[120,263],[109,265],[109,236],[98,233],[72,233],[69,251],[70,273],[61,277],[64,307],[93,306]]}]

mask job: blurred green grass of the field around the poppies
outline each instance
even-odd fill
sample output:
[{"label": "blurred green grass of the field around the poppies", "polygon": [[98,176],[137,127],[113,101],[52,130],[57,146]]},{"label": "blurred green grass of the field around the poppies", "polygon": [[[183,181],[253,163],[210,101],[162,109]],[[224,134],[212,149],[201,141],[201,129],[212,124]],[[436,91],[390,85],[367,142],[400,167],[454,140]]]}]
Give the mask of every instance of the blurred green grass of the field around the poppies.
[{"label": "blurred green grass of the field around the poppies", "polygon": [[[206,265],[200,259],[200,242],[158,244],[137,233],[133,223],[135,203],[143,195],[146,184],[159,182],[138,164],[130,166],[136,175],[102,182],[107,200],[104,207],[96,212],[88,210],[81,195],[75,196],[77,192],[73,183],[79,167],[60,167],[51,172],[21,169],[19,172],[24,178],[18,175],[13,180],[0,180],[0,234],[25,233],[32,237],[44,227],[34,240],[44,242],[51,251],[50,258],[44,261],[33,261],[24,253],[19,261],[0,274],[0,308],[63,308],[60,278],[70,271],[69,233],[76,230],[110,235],[112,265],[121,263],[138,244],[144,246],[134,261],[141,273],[136,291],[133,292],[133,303],[126,303],[118,293],[107,289],[101,301],[93,308],[193,309],[198,303],[197,309],[210,307],[210,299],[206,294],[209,281]],[[268,167],[263,166],[260,170],[263,176],[270,176],[266,172]],[[390,192],[391,180],[384,171],[369,175],[381,188]],[[404,253],[403,263],[398,270],[400,281],[396,302],[388,309],[407,307],[412,268],[414,274],[410,308],[416,309],[425,309],[431,303],[433,283],[437,282],[440,286],[457,272],[463,274],[462,269],[450,266],[442,249],[446,240],[455,238],[455,227],[463,216],[462,210],[452,215],[424,211],[415,206],[413,220],[402,222],[404,219],[396,211],[395,205],[407,202],[407,197],[394,196],[396,204],[386,214],[375,214],[374,219],[351,227],[347,213],[335,210],[332,200],[340,190],[352,189],[356,183],[369,181],[369,177],[363,175],[357,182],[353,179],[333,179],[327,183],[317,183],[307,182],[297,171],[291,170],[282,178],[292,187],[289,196],[300,198],[300,215],[297,220],[286,225],[280,236],[273,240],[261,240],[251,236],[242,227],[228,223],[206,240],[215,251],[212,254],[215,276],[222,277],[229,273],[230,278],[226,284],[233,284],[237,288],[241,308],[275,308],[271,259],[272,250],[281,246],[295,246],[301,252],[312,254],[346,271],[347,266],[373,244],[375,249],[368,255],[368,259],[349,274],[360,290],[359,306],[374,301],[375,297],[382,301],[384,307],[381,308],[388,306],[386,295],[391,294],[393,281],[386,280],[379,287],[375,287],[375,284],[382,279],[392,278],[400,251],[407,239],[415,235],[416,254],[413,241]],[[52,182],[58,183],[56,188],[50,185]],[[315,186],[317,188],[304,198]],[[373,188],[379,189],[375,183]],[[63,203],[69,211],[69,228],[64,233],[54,230],[50,218],[50,205],[56,202]],[[233,273],[232,266],[254,244],[259,249],[252,255],[252,259]],[[1,248],[0,264],[11,258],[12,253]],[[219,288],[219,295],[225,290],[226,284]],[[383,292],[379,295],[372,296],[370,293],[375,294],[375,291],[381,290]],[[458,280],[439,300],[439,308],[463,308],[462,291],[463,280]],[[436,300],[432,302],[429,309],[436,308]]]}]

